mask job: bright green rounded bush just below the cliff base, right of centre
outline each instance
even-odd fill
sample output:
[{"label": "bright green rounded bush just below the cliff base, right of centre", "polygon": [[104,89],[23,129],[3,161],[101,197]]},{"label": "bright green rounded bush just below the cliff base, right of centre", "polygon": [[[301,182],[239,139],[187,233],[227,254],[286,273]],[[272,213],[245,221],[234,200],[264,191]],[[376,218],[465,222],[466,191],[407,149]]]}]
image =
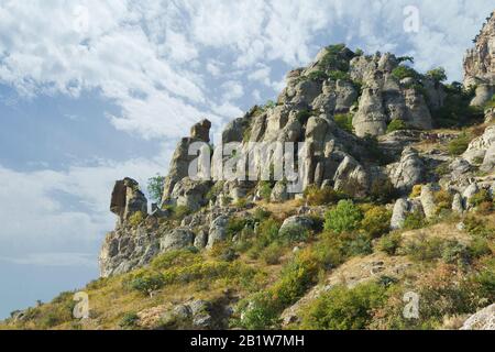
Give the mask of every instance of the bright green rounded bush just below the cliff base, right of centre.
[{"label": "bright green rounded bush just below the cliff base, right of centre", "polygon": [[324,229],[334,233],[351,232],[361,226],[363,215],[352,200],[341,200],[324,215]]}]

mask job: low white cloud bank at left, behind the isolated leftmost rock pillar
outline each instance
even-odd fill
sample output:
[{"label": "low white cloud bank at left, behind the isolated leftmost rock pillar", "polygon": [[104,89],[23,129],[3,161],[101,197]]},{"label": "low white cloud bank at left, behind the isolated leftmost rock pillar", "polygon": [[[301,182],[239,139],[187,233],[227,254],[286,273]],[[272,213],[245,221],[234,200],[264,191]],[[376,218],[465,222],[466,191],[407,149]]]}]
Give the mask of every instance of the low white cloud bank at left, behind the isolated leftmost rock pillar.
[{"label": "low white cloud bank at left, behind the isolated leftmost rock pillar", "polygon": [[102,162],[31,173],[0,166],[0,255],[92,251],[114,226],[109,211],[114,180],[130,176],[145,188],[148,177],[165,169],[164,162]]}]

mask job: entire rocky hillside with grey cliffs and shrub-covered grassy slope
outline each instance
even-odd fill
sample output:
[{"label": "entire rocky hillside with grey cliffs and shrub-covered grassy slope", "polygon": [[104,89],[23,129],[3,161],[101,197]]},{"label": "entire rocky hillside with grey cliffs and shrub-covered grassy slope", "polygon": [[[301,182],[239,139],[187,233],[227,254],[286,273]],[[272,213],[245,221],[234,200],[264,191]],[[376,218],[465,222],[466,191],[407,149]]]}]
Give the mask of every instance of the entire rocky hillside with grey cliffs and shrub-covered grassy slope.
[{"label": "entire rocky hillside with grey cliffs and shrub-covered grassy slope", "polygon": [[[219,177],[228,157],[198,122],[152,180],[151,212],[135,180],[116,183],[101,278],[80,289],[89,317],[63,293],[0,329],[493,329],[494,42],[492,14],[463,84],[411,57],[322,48],[223,130],[249,179]],[[217,177],[189,175],[195,143]],[[282,154],[244,157],[254,143],[304,143],[297,179],[274,179]]]}]

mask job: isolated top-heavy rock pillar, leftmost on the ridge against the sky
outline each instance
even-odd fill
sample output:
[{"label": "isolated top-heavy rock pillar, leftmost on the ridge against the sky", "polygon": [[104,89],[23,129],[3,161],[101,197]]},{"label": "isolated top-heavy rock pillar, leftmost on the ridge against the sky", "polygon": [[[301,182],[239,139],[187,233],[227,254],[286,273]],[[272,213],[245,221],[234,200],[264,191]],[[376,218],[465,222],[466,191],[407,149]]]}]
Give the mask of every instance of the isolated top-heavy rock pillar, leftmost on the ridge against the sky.
[{"label": "isolated top-heavy rock pillar, leftmost on the ridge against the sky", "polygon": [[116,182],[110,211],[119,217],[119,223],[123,223],[138,211],[141,211],[143,216],[147,215],[147,200],[140,190],[138,182],[132,178]]}]

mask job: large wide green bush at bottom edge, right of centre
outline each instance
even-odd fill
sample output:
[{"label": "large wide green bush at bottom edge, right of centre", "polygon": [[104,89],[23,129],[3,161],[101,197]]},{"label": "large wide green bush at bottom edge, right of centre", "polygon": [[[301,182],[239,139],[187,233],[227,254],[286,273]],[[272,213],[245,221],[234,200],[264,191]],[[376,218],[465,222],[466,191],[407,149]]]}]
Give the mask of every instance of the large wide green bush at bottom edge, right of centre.
[{"label": "large wide green bush at bottom edge, right of centre", "polygon": [[365,283],[346,288],[337,286],[322,294],[305,309],[301,327],[311,330],[366,329],[373,310],[387,299],[387,288]]}]

